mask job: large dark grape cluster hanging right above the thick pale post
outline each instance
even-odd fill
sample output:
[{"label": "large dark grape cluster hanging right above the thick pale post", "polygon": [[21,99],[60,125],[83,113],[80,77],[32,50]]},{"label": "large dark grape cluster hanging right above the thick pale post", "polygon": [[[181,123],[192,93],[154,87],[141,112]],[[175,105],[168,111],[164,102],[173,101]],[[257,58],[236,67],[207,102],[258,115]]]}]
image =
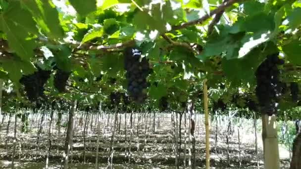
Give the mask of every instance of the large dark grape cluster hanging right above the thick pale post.
[{"label": "large dark grape cluster hanging right above the thick pale post", "polygon": [[255,73],[257,86],[256,96],[261,111],[271,116],[277,112],[278,99],[282,95],[284,84],[279,81],[278,65],[284,60],[278,57],[279,53],[268,55],[259,65]]}]

